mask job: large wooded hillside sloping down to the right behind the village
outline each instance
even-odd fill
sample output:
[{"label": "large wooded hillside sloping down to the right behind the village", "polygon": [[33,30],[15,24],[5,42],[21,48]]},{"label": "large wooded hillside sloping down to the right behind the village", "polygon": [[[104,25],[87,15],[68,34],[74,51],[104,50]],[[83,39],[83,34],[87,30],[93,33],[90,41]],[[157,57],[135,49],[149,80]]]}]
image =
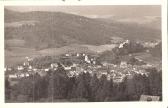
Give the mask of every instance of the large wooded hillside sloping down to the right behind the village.
[{"label": "large wooded hillside sloping down to the right behind the village", "polygon": [[[61,12],[19,13],[5,9],[5,39],[25,41],[25,47],[55,48],[70,44],[109,44],[111,37],[160,39],[159,30],[122,23],[106,23]],[[8,46],[8,45],[7,45]]]}]

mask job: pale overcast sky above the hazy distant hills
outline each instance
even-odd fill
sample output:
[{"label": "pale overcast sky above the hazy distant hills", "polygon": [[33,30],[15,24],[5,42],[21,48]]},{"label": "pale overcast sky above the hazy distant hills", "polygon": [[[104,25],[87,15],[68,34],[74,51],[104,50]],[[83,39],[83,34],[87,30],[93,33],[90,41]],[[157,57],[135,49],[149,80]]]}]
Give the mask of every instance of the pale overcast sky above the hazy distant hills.
[{"label": "pale overcast sky above the hazy distant hills", "polygon": [[61,11],[88,17],[119,16],[125,18],[137,18],[144,16],[161,16],[161,6],[154,5],[124,5],[124,6],[7,6],[10,10],[28,11]]}]

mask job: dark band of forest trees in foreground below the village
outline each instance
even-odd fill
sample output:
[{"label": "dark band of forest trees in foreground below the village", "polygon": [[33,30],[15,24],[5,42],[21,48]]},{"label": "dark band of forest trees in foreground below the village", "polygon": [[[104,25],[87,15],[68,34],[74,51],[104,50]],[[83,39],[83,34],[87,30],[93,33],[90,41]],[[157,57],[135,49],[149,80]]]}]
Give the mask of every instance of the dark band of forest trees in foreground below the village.
[{"label": "dark band of forest trees in foreground below the village", "polygon": [[162,97],[162,75],[156,69],[147,69],[149,76],[126,77],[122,83],[97,78],[89,73],[69,78],[60,66],[45,77],[38,74],[19,79],[18,84],[5,81],[6,102],[103,102],[139,101],[142,94]]}]

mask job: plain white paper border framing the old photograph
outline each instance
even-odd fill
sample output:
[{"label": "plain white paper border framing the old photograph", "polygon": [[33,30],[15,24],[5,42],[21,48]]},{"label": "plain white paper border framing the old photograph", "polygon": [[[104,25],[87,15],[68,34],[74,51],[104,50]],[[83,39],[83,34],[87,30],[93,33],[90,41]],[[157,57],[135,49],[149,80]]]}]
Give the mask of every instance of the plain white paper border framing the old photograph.
[{"label": "plain white paper border framing the old photograph", "polygon": [[[4,6],[18,5],[162,5],[162,73],[163,101],[162,102],[100,102],[100,103],[4,103]],[[30,108],[30,107],[118,107],[118,108],[166,108],[168,107],[168,53],[167,53],[167,0],[6,0],[0,1],[0,107]]]}]

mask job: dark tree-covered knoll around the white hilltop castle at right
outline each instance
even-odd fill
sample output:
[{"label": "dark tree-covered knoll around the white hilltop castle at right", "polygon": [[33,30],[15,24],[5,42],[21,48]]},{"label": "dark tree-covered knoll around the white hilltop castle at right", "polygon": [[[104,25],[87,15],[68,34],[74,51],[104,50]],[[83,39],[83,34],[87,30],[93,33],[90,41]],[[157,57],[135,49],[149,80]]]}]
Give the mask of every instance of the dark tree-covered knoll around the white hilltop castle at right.
[{"label": "dark tree-covered knoll around the white hilltop castle at right", "polygon": [[[149,52],[146,52],[147,50],[149,50]],[[119,64],[122,60],[122,56],[134,54],[134,53],[143,53],[143,52],[149,53],[153,57],[161,58],[162,42],[158,43],[154,48],[146,48],[141,43],[130,41],[130,43],[124,44],[122,48],[116,47],[111,51],[104,51],[103,53],[100,54],[99,60],[108,61],[113,64]],[[133,63],[132,65],[134,64],[137,64],[137,63]]]}]

